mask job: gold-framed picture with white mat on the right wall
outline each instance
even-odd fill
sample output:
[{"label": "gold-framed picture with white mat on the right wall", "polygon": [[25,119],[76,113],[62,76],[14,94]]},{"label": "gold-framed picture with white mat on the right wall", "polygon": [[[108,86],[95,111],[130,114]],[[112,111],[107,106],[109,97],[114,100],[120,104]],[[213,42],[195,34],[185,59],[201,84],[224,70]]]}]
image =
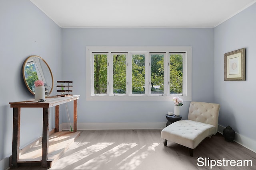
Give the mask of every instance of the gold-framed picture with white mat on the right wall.
[{"label": "gold-framed picture with white mat on the right wall", "polygon": [[224,54],[224,81],[245,81],[245,48]]}]

